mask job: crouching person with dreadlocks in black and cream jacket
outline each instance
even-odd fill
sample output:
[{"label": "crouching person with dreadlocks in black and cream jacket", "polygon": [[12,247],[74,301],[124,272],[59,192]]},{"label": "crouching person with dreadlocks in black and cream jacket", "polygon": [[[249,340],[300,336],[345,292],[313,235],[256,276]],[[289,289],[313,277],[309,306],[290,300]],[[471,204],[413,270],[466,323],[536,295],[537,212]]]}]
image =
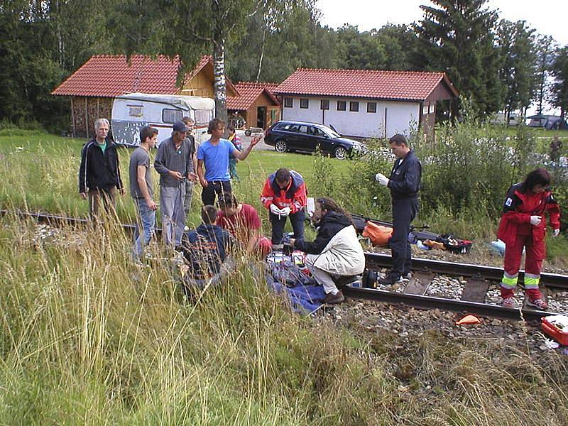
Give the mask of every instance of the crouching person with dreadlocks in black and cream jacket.
[{"label": "crouching person with dreadlocks in black and cream jacket", "polygon": [[365,255],[351,216],[331,198],[318,198],[312,221],[317,226],[315,241],[290,239],[290,244],[307,253],[305,264],[326,293],[323,302],[343,302],[334,278],[359,275],[365,269]]}]

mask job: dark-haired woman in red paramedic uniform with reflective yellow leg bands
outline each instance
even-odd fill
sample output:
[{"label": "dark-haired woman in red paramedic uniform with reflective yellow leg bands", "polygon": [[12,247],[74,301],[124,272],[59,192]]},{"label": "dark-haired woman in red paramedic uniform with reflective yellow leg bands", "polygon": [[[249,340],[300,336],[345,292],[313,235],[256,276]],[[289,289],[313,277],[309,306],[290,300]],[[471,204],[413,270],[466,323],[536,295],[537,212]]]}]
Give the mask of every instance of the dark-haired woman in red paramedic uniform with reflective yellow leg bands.
[{"label": "dark-haired woman in red paramedic uniform with reflective yellow leg bands", "polygon": [[513,292],[517,286],[523,249],[525,260],[525,293],[527,305],[545,310],[548,305],[538,290],[540,269],[545,258],[545,213],[550,217],[552,235],[560,232],[560,209],[548,190],[550,175],[543,169],[532,170],[524,182],[511,186],[503,205],[497,238],[506,244],[501,297],[504,307],[515,307]]}]

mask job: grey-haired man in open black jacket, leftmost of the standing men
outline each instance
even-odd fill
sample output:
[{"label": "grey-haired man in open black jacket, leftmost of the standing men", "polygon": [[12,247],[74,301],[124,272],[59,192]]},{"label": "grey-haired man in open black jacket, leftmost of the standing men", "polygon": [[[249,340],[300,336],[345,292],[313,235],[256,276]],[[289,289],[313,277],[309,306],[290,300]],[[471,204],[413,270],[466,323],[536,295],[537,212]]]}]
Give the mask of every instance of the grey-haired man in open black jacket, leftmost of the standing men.
[{"label": "grey-haired man in open black jacket, leftmost of the standing men", "polygon": [[89,216],[93,222],[99,217],[100,203],[109,212],[116,207],[116,190],[124,195],[120,177],[119,153],[110,138],[109,121],[94,122],[95,136],[81,151],[79,168],[79,193],[83,200],[89,199]]}]

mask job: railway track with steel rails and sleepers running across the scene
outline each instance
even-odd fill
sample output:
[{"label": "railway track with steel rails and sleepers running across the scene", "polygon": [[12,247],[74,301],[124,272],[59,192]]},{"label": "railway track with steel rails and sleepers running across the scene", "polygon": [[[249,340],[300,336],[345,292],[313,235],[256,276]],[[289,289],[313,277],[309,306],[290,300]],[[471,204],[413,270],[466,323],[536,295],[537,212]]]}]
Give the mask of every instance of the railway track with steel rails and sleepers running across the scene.
[{"label": "railway track with steel rails and sleepers running across the scene", "polygon": [[[0,214],[9,214],[1,210]],[[87,219],[77,219],[74,217],[61,217],[53,214],[16,212],[20,217],[28,217],[38,220],[40,223],[61,226],[68,224],[72,226],[86,226],[89,224]],[[132,232],[133,225],[122,225],[126,232]],[[158,232],[160,230],[157,230]],[[381,253],[366,252],[367,268],[377,271],[379,268],[391,266],[391,256]],[[464,290],[459,300],[445,297],[432,297],[425,295],[428,286],[436,275],[449,275],[461,277],[465,280]],[[540,311],[528,307],[520,309],[501,307],[485,302],[486,293],[491,283],[501,281],[503,269],[493,266],[481,266],[470,263],[453,263],[436,261],[424,258],[413,259],[413,278],[402,292],[389,290],[378,290],[376,288],[344,288],[345,295],[378,302],[386,302],[394,305],[416,307],[419,309],[432,310],[439,309],[452,312],[464,312],[483,317],[501,318],[506,320],[524,319],[536,324],[546,315],[555,315],[557,312]],[[542,293],[547,297],[548,290],[559,289],[568,290],[568,275],[555,273],[542,273]],[[523,281],[523,271],[519,273],[519,281]]]}]

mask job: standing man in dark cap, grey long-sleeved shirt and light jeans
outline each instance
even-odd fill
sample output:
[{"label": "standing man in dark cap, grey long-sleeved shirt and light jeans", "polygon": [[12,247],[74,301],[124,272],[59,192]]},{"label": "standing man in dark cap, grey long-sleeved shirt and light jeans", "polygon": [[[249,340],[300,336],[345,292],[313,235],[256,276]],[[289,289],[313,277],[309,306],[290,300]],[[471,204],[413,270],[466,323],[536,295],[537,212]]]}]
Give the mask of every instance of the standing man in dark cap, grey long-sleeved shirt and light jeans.
[{"label": "standing man in dark cap, grey long-sleeved shirt and light jeans", "polygon": [[185,227],[185,191],[187,180],[197,178],[193,173],[192,147],[187,143],[187,126],[176,121],[173,133],[158,147],[154,168],[160,174],[160,209],[162,235],[166,245],[181,244]]}]

